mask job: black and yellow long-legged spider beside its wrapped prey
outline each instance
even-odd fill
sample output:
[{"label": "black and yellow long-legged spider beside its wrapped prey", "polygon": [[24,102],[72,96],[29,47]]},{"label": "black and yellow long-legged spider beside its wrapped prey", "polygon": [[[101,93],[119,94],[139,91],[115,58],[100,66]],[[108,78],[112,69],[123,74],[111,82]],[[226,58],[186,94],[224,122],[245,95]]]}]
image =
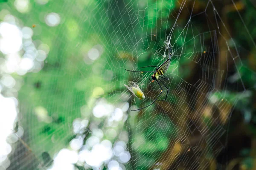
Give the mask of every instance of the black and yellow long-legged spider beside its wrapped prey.
[{"label": "black and yellow long-legged spider beside its wrapped prey", "polygon": [[[165,42],[166,43],[166,42]],[[170,42],[166,43],[167,45],[167,48],[168,48],[168,59],[166,59],[165,62],[163,62],[163,64],[161,64],[159,67],[158,66],[155,66],[155,65],[148,65],[148,66],[145,66],[145,67],[141,67],[141,68],[146,68],[146,67],[155,67],[156,70],[155,71],[131,71],[131,70],[127,70],[125,69],[126,71],[131,71],[131,72],[136,72],[136,73],[154,73],[152,76],[151,76],[151,79],[150,77],[148,77],[148,79],[150,80],[150,82],[154,82],[156,81],[157,84],[159,85],[161,91],[160,91],[160,94],[163,93],[163,88],[162,86],[160,85],[159,81],[164,85],[164,87],[167,89],[167,92],[166,92],[166,96],[165,96],[165,99],[162,99],[162,100],[158,100],[158,97],[160,96],[160,94],[158,94],[157,98],[154,99],[153,102],[151,102],[151,104],[143,107],[143,108],[139,108],[139,109],[136,109],[136,110],[132,110],[132,111],[138,111],[138,110],[141,110],[141,109],[144,109],[144,108],[147,108],[148,106],[152,105],[154,102],[156,101],[164,101],[166,100],[167,98],[167,95],[168,95],[168,92],[169,92],[169,88],[162,82],[161,79],[166,79],[166,80],[169,80],[169,78],[165,77],[164,74],[166,73],[166,71],[168,70],[169,66],[170,66],[170,63],[171,63],[171,57],[172,57],[172,48],[171,48],[171,45],[170,45]],[[164,55],[165,56],[165,55]],[[163,77],[161,77],[163,76]],[[161,78],[161,79],[159,79]],[[158,81],[159,80],[159,81]]]}]

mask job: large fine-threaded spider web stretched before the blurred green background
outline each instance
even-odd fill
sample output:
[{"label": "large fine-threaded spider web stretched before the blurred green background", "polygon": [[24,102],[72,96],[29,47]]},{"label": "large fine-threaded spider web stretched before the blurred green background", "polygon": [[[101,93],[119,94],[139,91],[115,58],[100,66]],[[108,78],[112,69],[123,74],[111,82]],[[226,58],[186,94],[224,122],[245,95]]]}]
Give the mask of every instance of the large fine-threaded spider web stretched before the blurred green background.
[{"label": "large fine-threaded spider web stretched before the blurred green background", "polygon": [[[231,102],[227,95],[246,88],[239,73],[241,57],[218,3],[100,0],[47,4],[40,8],[47,13],[58,8],[61,23],[56,28],[37,26],[47,33],[41,41],[49,43],[50,51],[42,70],[26,74],[20,89],[19,129],[24,132],[10,155],[9,170],[226,167],[221,151],[239,100]],[[231,6],[243,21],[235,2]],[[40,17],[37,8],[35,3],[30,12]],[[25,16],[23,25],[34,20]],[[164,74],[169,80],[162,79],[169,88],[167,99],[131,111],[153,102],[160,88],[149,82],[151,73],[125,69],[154,71],[140,67],[166,61],[167,39],[172,45],[171,64]],[[234,73],[236,81],[230,82]],[[144,100],[125,88],[128,81],[140,86]],[[32,88],[28,95],[34,86],[39,88]],[[166,93],[163,87],[159,99]],[[42,153],[50,157],[46,160]]]}]

